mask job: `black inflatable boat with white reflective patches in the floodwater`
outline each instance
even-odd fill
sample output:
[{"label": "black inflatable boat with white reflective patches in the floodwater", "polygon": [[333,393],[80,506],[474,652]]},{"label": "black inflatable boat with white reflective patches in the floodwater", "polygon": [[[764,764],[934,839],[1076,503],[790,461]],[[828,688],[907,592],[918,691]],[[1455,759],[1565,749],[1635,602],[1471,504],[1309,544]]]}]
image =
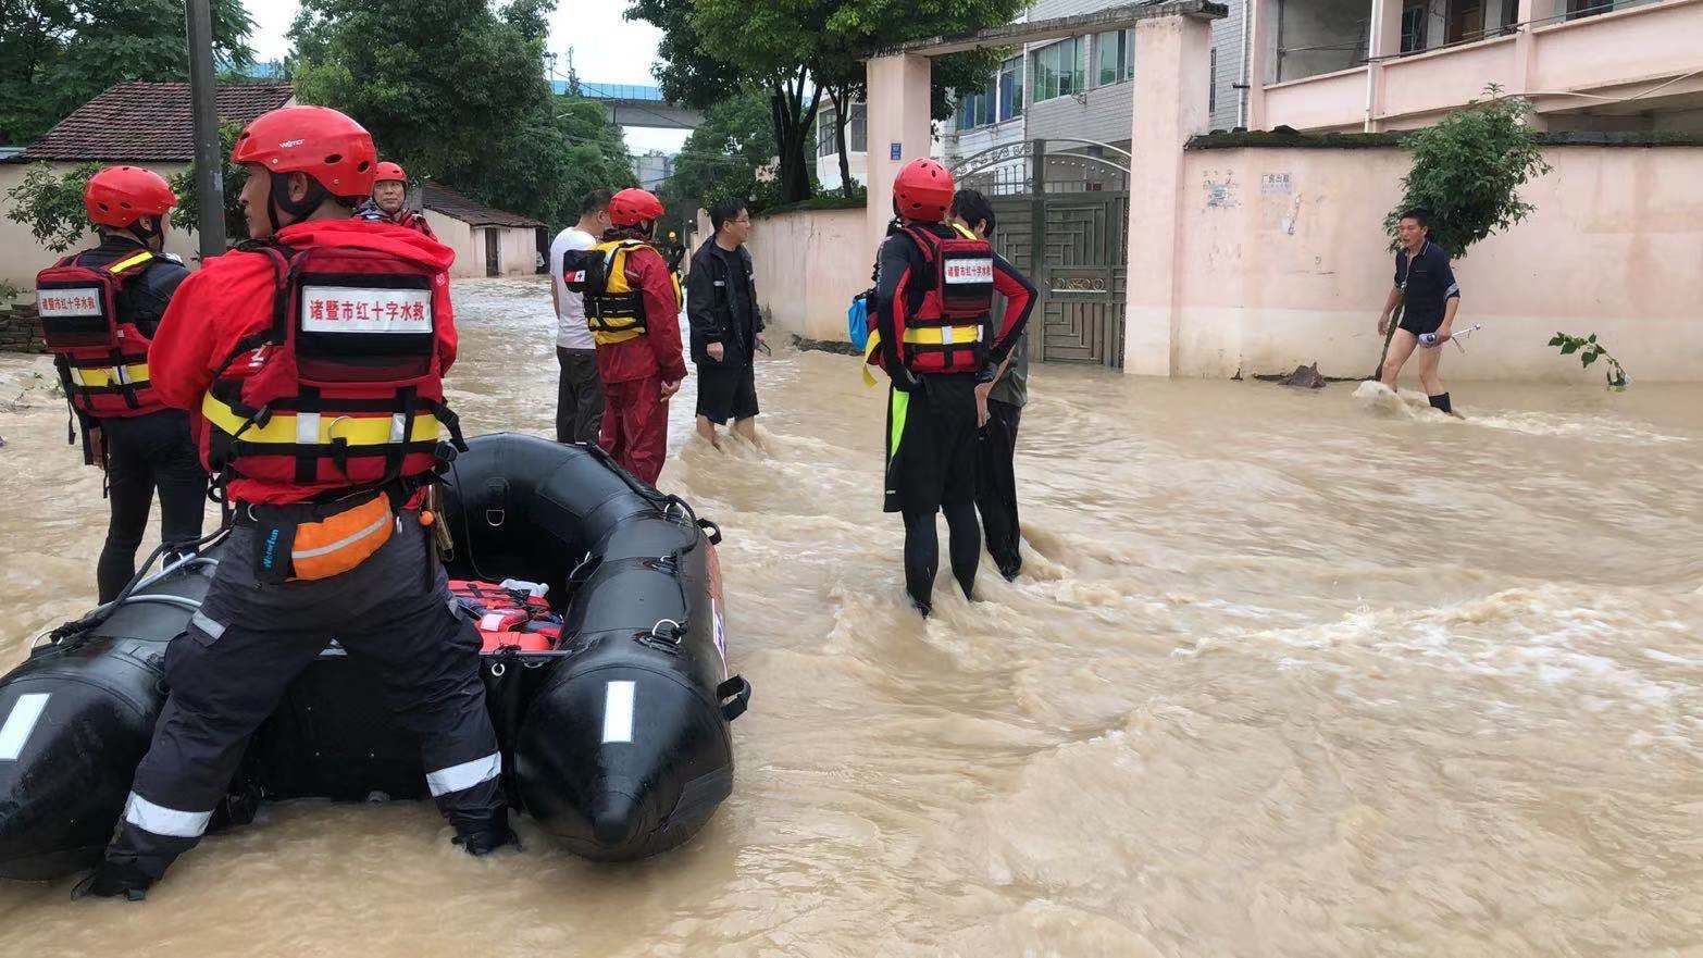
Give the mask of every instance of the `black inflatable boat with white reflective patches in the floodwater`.
[{"label": "black inflatable boat with white reflective patches in the floodwater", "polygon": [[[732,791],[727,723],[751,696],[727,669],[720,533],[584,446],[484,436],[446,478],[451,579],[553,623],[482,628],[511,801],[593,859],[685,842]],[[141,580],[0,679],[0,878],[95,863],[165,701],[165,645],[216,562],[213,546]],[[426,796],[419,750],[373,687],[327,636],[215,825],[245,824],[262,800]]]}]

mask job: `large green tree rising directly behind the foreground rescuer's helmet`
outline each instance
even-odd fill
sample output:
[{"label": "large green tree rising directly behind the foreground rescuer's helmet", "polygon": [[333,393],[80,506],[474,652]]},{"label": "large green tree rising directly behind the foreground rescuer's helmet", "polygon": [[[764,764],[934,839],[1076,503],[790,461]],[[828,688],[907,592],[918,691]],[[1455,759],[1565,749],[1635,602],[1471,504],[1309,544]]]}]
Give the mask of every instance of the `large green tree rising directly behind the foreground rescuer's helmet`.
[{"label": "large green tree rising directly behind the foreground rescuer's helmet", "polygon": [[536,131],[552,0],[303,0],[291,68],[303,102],[354,116],[412,175],[480,170]]}]

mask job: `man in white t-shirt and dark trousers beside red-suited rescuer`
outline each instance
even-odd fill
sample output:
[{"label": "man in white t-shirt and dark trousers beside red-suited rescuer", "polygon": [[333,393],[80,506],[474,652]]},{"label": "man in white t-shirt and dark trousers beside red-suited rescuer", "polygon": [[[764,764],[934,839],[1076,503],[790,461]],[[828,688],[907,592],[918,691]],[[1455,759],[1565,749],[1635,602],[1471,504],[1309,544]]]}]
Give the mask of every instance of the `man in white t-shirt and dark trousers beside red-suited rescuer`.
[{"label": "man in white t-shirt and dark trousers beside red-suited rescuer", "polygon": [[562,255],[589,250],[610,228],[610,196],[594,189],[579,201],[579,223],[562,230],[550,243],[550,299],[555,303],[555,361],[562,378],[555,391],[555,441],[596,442],[603,427],[603,381],[598,378],[598,347],[586,327],[586,301],[562,284]]}]

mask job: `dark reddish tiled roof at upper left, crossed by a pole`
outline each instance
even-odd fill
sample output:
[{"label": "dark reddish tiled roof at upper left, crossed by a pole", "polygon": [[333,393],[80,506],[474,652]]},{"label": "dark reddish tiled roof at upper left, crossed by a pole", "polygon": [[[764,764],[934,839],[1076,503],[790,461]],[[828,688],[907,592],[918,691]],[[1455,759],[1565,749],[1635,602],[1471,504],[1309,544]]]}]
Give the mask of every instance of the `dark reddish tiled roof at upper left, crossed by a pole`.
[{"label": "dark reddish tiled roof at upper left, crossed by a pole", "polygon": [[[221,83],[220,123],[247,123],[295,97],[290,83]],[[46,136],[12,157],[34,160],[179,160],[196,158],[189,83],[119,83],[80,105]]]}]

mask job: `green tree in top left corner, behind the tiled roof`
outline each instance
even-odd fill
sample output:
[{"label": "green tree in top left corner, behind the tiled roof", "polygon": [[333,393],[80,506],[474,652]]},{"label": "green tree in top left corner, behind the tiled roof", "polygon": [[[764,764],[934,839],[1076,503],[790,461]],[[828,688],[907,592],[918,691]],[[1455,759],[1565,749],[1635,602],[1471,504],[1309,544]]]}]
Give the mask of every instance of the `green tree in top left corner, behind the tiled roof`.
[{"label": "green tree in top left corner, behind the tiled roof", "polygon": [[[254,61],[242,0],[213,0],[213,54]],[[187,80],[182,0],[0,2],[0,143],[29,143],[126,80]]]}]

